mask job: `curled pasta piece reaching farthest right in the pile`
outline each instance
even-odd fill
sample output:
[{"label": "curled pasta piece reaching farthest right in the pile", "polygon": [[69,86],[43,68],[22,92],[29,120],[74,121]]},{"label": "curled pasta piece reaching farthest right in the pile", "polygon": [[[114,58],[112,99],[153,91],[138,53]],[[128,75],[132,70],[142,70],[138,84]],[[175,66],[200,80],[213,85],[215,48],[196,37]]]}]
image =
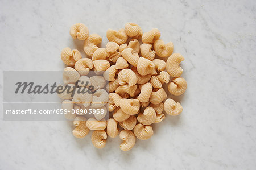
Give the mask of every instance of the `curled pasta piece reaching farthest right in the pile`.
[{"label": "curled pasta piece reaching farthest right in the pile", "polygon": [[179,96],[187,89],[187,81],[185,78],[177,77],[172,80],[168,85],[168,90],[171,94]]}]

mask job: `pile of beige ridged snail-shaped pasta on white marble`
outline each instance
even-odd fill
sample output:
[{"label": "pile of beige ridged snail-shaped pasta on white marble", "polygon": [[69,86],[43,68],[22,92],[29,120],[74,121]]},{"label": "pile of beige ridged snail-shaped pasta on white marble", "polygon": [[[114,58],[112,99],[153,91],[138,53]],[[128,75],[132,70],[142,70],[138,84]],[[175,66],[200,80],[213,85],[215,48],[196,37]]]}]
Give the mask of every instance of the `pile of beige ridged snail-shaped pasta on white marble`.
[{"label": "pile of beige ridged snail-shaped pasta on white marble", "polygon": [[[119,135],[122,140],[119,147],[122,151],[129,151],[136,138],[151,138],[154,134],[152,123],[162,122],[166,118],[164,113],[174,116],[183,111],[180,103],[167,98],[162,86],[168,84],[168,91],[175,96],[185,92],[187,82],[180,77],[183,73],[180,63],[184,57],[180,53],[172,53],[172,42],[164,43],[157,28],[143,32],[137,24],[126,23],[125,28],[118,31],[109,29],[106,32],[109,42],[105,48],[98,47],[101,36],[89,34],[82,23],[74,24],[70,35],[84,41],[87,57],[82,57],[77,49],[64,48],[61,59],[68,67],[64,69],[63,80],[71,87],[77,80],[89,81],[89,85],[96,87],[96,92],[75,94],[73,97],[67,93],[60,94],[65,99],[63,109],[92,105],[110,113],[108,120],[104,119],[105,114],[95,114],[88,120],[79,113],[65,114],[67,119],[73,120],[76,138],[84,138],[89,130],[93,130],[93,145],[103,148],[107,138]],[[97,76],[87,77],[89,71],[96,72]],[[108,81],[109,84],[106,83]],[[109,94],[102,89],[104,87]]]}]

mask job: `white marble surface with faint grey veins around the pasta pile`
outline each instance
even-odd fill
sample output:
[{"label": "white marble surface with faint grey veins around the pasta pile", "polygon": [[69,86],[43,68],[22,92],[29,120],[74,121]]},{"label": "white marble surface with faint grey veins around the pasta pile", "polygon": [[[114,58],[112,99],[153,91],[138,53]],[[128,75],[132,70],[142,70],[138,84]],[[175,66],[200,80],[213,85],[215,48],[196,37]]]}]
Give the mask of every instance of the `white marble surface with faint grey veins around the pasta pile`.
[{"label": "white marble surface with faint grey veins around the pasta pile", "polygon": [[[60,51],[85,23],[106,42],[108,28],[159,28],[184,55],[184,111],[122,152],[118,138],[97,150],[65,121],[0,120],[0,169],[255,169],[255,1],[0,1],[3,70],[60,70]],[[82,50],[81,50],[82,51]],[[2,76],[2,73],[1,73]],[[0,77],[2,102],[2,77]],[[2,114],[2,105],[1,105]]]}]

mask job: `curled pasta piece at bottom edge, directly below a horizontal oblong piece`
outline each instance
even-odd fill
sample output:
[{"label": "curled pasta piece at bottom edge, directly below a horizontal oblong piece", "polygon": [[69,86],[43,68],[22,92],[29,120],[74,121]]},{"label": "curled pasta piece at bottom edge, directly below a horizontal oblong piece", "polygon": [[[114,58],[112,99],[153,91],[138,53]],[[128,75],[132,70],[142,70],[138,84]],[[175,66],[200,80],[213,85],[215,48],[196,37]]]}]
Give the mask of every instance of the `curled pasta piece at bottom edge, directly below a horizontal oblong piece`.
[{"label": "curled pasta piece at bottom edge, directly below a horizontal oblong piece", "polygon": [[94,147],[101,149],[106,145],[107,134],[104,130],[96,130],[92,133],[92,144]]}]

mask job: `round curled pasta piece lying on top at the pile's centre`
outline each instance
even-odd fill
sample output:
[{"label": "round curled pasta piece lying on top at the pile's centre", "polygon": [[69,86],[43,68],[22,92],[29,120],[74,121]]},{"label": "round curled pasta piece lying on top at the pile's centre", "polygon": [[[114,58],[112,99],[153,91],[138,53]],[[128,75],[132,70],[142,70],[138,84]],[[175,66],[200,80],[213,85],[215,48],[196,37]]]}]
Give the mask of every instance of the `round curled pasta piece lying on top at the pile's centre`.
[{"label": "round curled pasta piece lying on top at the pile's centre", "polygon": [[133,86],[137,82],[136,74],[131,69],[122,69],[117,76],[118,83],[120,85],[128,84]]}]

